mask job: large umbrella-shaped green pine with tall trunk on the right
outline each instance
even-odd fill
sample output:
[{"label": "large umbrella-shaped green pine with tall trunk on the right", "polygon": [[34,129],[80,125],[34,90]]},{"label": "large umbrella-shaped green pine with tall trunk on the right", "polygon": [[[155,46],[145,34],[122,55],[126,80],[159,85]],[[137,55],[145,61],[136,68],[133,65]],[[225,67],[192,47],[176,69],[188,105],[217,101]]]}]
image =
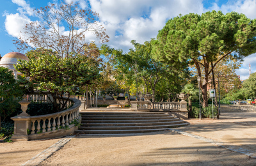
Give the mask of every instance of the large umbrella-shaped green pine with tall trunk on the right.
[{"label": "large umbrella-shaped green pine with tall trunk on the right", "polygon": [[208,77],[214,67],[230,54],[242,59],[255,53],[255,36],[256,20],[248,19],[242,13],[189,13],[168,20],[157,34],[152,50],[156,59],[170,65],[195,63],[197,73],[202,77],[203,106],[207,107]]}]

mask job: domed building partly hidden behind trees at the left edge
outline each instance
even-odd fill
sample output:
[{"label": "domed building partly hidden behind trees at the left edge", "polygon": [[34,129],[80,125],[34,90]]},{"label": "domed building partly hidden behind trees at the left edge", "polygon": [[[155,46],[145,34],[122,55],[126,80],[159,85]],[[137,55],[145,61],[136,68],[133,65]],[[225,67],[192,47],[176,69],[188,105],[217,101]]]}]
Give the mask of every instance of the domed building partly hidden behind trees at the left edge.
[{"label": "domed building partly hidden behind trees at the left edge", "polygon": [[28,57],[19,52],[10,52],[8,54],[5,54],[0,60],[0,66],[12,70],[15,79],[17,79],[17,75],[22,75],[22,73],[17,72],[17,70],[15,70],[13,66],[14,64],[17,64],[18,59],[29,61]]}]

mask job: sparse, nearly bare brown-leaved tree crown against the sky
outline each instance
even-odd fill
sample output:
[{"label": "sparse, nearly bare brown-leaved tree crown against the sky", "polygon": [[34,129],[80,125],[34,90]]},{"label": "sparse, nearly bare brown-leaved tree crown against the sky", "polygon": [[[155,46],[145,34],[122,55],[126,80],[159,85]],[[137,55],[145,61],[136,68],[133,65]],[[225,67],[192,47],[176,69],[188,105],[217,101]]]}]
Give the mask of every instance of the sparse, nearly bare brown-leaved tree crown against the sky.
[{"label": "sparse, nearly bare brown-leaved tree crown against the sky", "polygon": [[15,40],[18,50],[51,49],[59,57],[68,57],[70,52],[84,54],[89,47],[86,31],[92,31],[100,42],[108,41],[106,29],[96,21],[99,14],[79,8],[79,4],[49,4],[36,9],[35,15],[40,20],[26,25]]}]

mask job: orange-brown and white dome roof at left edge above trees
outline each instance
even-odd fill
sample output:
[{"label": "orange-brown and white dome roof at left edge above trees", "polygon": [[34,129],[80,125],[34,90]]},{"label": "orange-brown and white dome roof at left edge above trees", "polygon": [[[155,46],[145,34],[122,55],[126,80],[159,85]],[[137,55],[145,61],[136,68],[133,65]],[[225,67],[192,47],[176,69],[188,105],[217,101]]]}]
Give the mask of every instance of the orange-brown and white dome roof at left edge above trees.
[{"label": "orange-brown and white dome roof at left edge above trees", "polygon": [[19,52],[10,52],[8,54],[5,54],[1,61],[1,64],[17,64],[17,60],[22,59],[22,60],[27,60],[29,61],[28,57],[26,57],[24,54],[21,54]]}]

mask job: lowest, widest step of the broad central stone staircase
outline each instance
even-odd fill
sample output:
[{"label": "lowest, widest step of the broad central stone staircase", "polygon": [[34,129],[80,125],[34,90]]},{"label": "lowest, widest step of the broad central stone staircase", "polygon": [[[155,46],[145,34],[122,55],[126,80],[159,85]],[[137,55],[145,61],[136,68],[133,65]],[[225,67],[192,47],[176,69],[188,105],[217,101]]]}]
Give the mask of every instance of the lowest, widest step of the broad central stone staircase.
[{"label": "lowest, widest step of the broad central stone staircase", "polygon": [[186,126],[189,123],[173,124],[166,128],[154,128],[154,129],[140,129],[140,130],[76,130],[79,134],[118,134],[118,133],[148,133],[148,132],[160,132],[165,131],[168,128],[177,128],[179,126]]}]

